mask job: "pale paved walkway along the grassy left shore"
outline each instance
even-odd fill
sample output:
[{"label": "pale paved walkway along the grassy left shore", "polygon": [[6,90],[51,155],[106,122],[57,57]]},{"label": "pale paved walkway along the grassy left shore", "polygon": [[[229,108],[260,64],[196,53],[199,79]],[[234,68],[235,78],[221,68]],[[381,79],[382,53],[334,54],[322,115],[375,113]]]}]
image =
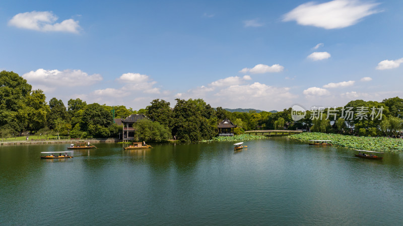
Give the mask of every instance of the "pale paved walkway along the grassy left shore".
[{"label": "pale paved walkway along the grassy left shore", "polygon": [[6,144],[42,144],[42,143],[77,143],[77,142],[88,142],[91,143],[101,143],[101,142],[118,142],[117,138],[106,138],[106,139],[96,139],[96,138],[89,138],[89,139],[36,139],[36,140],[7,140],[5,142],[0,142],[0,145]]}]

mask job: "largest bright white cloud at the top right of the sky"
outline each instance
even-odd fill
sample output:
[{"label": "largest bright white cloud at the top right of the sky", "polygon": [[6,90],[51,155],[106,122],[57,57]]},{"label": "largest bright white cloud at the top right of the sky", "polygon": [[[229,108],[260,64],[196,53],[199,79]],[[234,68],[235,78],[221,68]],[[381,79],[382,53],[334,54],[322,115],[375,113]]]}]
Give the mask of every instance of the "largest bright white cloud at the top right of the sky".
[{"label": "largest bright white cloud at the top right of the sky", "polygon": [[325,29],[345,28],[358,23],[362,18],[378,13],[377,3],[358,0],[334,0],[316,4],[309,2],[284,15],[283,21],[296,21]]}]

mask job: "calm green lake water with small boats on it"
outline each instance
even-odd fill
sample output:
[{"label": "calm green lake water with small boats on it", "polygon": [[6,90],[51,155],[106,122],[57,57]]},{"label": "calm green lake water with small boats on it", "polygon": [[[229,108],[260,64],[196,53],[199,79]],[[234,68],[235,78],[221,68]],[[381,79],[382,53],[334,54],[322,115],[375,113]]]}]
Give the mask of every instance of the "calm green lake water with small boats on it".
[{"label": "calm green lake water with small boats on it", "polygon": [[284,137],[0,146],[0,225],[401,225],[403,153],[383,161]]}]

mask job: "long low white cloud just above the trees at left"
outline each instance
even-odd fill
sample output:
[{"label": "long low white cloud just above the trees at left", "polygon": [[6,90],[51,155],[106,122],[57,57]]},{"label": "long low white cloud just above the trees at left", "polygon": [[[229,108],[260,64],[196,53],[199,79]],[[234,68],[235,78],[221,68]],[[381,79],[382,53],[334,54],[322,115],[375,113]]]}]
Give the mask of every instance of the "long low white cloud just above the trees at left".
[{"label": "long low white cloud just above the trees at left", "polygon": [[71,70],[66,69],[59,71],[37,69],[36,71],[31,70],[22,76],[29,83],[45,85],[45,86],[58,86],[58,87],[77,87],[77,86],[88,86],[93,85],[99,81],[102,81],[102,76],[100,74],[92,74],[81,70]]}]

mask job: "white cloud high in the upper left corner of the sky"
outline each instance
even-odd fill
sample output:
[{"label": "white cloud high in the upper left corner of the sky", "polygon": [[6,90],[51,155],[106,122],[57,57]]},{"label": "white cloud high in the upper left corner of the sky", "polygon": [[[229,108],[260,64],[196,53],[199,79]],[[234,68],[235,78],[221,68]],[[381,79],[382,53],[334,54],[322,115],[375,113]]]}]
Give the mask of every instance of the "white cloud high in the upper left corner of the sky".
[{"label": "white cloud high in the upper left corner of the sky", "polygon": [[17,28],[35,30],[35,31],[60,31],[78,33],[81,29],[79,21],[73,19],[64,20],[61,23],[55,23],[57,16],[52,12],[27,12],[15,15],[10,21],[10,26]]}]

